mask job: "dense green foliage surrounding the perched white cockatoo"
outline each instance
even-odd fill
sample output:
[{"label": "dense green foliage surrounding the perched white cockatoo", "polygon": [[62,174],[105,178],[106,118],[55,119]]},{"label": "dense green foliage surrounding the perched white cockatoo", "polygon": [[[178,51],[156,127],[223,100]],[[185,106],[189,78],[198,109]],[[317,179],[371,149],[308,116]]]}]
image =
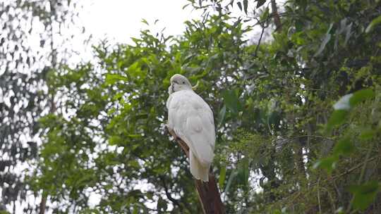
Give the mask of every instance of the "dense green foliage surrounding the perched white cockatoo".
[{"label": "dense green foliage surrounding the perched white cockatoo", "polygon": [[[181,73],[214,111],[226,213],[380,213],[380,1],[190,4],[205,13],[181,37],[143,30],[47,73],[34,191],[55,213],[200,213],[165,127]],[[250,44],[258,26],[272,38]]]}]

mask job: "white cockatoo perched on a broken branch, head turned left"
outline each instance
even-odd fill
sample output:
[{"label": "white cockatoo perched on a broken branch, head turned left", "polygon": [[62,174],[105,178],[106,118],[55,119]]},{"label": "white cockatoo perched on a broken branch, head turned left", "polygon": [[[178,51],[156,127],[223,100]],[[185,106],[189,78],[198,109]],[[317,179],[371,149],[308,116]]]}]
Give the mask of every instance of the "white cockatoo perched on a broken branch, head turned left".
[{"label": "white cockatoo perched on a broken branch, head turned left", "polygon": [[183,75],[171,77],[168,92],[168,127],[188,145],[193,177],[208,182],[216,141],[212,110]]}]

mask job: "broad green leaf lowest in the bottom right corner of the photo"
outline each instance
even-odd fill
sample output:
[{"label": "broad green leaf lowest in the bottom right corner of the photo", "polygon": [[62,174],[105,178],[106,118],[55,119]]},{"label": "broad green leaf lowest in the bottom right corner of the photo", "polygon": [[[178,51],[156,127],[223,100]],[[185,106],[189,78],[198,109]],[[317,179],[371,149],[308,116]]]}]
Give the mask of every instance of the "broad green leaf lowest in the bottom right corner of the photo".
[{"label": "broad green leaf lowest in the bottom right corner of the photo", "polygon": [[373,202],[380,184],[377,181],[366,182],[361,185],[352,185],[349,191],[353,194],[353,208],[365,210]]}]

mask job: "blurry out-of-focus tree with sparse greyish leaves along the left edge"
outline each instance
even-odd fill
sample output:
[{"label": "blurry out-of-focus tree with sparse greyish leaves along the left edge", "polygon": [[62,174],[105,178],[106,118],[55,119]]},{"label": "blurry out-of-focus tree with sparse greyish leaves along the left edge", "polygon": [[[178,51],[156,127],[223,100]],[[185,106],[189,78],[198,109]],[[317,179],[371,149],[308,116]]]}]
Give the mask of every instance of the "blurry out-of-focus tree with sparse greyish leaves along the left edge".
[{"label": "blurry out-of-focus tree with sparse greyish leaves along the left edge", "polygon": [[[37,120],[54,113],[47,75],[73,56],[68,27],[78,15],[77,1],[4,1],[0,4],[0,210],[25,204],[30,187],[21,173],[33,163],[41,144]],[[75,33],[75,27],[71,27]],[[25,210],[25,211],[26,211]]]}]

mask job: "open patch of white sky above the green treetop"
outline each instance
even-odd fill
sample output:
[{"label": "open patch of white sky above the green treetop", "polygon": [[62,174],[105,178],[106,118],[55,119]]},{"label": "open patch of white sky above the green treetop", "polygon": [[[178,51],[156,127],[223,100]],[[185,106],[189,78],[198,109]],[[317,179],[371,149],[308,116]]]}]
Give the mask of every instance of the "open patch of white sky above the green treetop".
[{"label": "open patch of white sky above the green treetop", "polygon": [[193,11],[186,0],[86,0],[80,19],[95,41],[115,39],[116,42],[131,42],[131,37],[139,37],[140,30],[147,29],[141,22],[144,18],[154,26],[152,30],[162,30],[164,34],[179,35],[185,30],[186,20],[200,18],[200,11]]}]

